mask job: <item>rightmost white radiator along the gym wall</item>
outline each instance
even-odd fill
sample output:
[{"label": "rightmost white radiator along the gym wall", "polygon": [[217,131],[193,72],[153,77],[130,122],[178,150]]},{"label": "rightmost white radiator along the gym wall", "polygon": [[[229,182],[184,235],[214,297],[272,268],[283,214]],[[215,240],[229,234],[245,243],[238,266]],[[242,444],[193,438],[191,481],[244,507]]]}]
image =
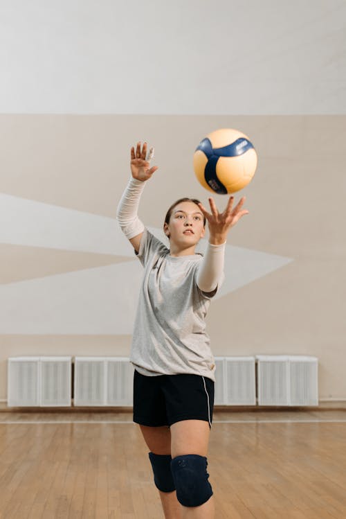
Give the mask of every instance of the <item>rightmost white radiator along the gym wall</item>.
[{"label": "rightmost white radiator along the gym wall", "polygon": [[256,355],[258,405],[318,405],[318,359]]}]

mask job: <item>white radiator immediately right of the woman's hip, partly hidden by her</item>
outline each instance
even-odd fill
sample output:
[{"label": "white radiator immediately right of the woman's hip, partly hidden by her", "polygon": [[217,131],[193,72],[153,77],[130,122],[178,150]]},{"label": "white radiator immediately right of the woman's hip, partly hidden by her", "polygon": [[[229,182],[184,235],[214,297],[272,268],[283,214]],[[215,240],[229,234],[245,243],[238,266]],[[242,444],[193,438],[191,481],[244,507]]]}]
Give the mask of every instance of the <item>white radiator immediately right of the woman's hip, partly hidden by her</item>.
[{"label": "white radiator immediately right of the woman's hip, partly hidden by her", "polygon": [[256,405],[255,357],[219,357],[215,365],[215,405]]}]

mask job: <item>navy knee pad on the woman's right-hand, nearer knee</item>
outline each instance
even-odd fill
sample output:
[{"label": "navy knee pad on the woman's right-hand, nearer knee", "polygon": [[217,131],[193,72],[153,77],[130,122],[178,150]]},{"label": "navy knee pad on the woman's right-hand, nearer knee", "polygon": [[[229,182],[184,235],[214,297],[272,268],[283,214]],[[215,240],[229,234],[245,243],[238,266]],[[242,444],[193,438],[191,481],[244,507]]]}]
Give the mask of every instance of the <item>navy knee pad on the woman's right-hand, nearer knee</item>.
[{"label": "navy knee pad on the woman's right-hand, nearer knee", "polygon": [[199,507],[212,496],[205,456],[188,454],[172,459],[171,470],[176,498],[184,507]]}]

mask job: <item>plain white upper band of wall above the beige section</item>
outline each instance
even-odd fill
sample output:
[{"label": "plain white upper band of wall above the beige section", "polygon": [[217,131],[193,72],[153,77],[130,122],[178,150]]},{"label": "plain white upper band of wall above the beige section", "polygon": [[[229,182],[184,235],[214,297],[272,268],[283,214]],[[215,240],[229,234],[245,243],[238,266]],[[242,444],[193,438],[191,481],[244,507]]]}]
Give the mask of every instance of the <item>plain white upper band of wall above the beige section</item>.
[{"label": "plain white upper band of wall above the beige section", "polygon": [[340,114],[343,0],[1,1],[0,112]]}]

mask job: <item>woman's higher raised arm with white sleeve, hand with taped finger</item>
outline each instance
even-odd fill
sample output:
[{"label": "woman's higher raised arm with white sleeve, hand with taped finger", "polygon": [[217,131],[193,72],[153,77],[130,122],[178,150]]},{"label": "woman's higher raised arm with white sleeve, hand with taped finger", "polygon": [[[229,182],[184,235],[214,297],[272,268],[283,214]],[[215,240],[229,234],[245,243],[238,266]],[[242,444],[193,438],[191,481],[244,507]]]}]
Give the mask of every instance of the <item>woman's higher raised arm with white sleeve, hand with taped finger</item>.
[{"label": "woman's higher raised arm with white sleeve, hand with taped finger", "polygon": [[[152,152],[152,148],[150,150]],[[140,150],[140,142],[137,143],[136,153],[134,146],[131,148],[131,179],[127,184],[124,193],[117,207],[116,219],[122,229],[122,232],[129,239],[134,249],[139,252],[140,238],[142,238],[144,225],[138,218],[138,206],[140,196],[143,193],[145,182],[152,177],[152,174],[158,169],[157,166],[149,168],[149,160],[152,158],[149,153],[147,157],[147,143],[143,144]]]}]

